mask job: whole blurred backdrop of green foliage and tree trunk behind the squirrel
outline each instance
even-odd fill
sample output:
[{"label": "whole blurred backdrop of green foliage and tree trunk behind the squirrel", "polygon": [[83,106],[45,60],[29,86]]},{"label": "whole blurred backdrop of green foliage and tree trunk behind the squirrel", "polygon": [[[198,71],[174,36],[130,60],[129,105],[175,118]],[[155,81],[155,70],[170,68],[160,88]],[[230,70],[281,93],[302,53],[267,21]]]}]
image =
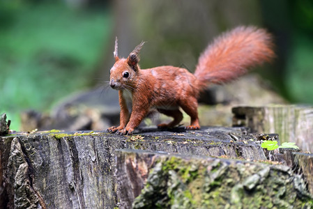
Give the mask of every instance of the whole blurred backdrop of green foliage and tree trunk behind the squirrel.
[{"label": "whole blurred backdrop of green foliage and tree trunk behind the squirrel", "polygon": [[258,72],[290,102],[313,104],[313,1],[0,0],[0,113],[20,129],[25,109],[49,112],[101,85],[114,37],[127,56],[141,40],[142,68],[192,71],[207,43],[239,24],[268,29],[277,59]]}]

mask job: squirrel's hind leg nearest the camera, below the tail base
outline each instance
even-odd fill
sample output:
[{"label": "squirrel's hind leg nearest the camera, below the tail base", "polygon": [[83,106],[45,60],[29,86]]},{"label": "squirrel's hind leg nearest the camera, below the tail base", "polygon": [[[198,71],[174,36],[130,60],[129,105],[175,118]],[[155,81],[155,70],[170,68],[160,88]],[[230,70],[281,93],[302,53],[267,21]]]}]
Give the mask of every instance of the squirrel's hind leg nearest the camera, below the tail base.
[{"label": "squirrel's hind leg nearest the camera, below the tail base", "polygon": [[180,102],[180,106],[188,116],[190,116],[190,125],[186,126],[186,130],[199,130],[199,118],[198,118],[198,101],[197,98],[188,98]]}]

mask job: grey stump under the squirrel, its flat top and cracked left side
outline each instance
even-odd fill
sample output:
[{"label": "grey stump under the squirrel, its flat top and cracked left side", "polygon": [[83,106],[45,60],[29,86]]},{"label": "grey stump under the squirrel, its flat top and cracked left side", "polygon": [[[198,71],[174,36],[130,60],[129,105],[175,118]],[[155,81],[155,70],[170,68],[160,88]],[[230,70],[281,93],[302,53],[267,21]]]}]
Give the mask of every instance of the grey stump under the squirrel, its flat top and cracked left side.
[{"label": "grey stump under the squirrel, its flat top and cracked left side", "polygon": [[0,137],[0,203],[3,208],[114,208],[119,206],[116,149],[265,161],[259,139],[239,127],[145,129],[133,136],[57,130],[10,134]]}]

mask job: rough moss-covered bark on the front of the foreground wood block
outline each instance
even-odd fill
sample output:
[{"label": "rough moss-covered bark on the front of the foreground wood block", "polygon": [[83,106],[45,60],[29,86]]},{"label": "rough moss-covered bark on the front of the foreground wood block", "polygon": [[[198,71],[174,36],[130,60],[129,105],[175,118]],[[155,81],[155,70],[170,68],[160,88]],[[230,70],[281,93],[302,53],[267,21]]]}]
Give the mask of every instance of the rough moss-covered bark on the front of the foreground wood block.
[{"label": "rough moss-covered bark on the front of the foreground wood block", "polygon": [[[252,189],[245,180],[268,167],[225,164],[221,160],[167,157],[155,162],[134,208],[310,208],[309,196],[298,196],[292,176],[271,167]],[[140,207],[139,207],[140,206]]]}]

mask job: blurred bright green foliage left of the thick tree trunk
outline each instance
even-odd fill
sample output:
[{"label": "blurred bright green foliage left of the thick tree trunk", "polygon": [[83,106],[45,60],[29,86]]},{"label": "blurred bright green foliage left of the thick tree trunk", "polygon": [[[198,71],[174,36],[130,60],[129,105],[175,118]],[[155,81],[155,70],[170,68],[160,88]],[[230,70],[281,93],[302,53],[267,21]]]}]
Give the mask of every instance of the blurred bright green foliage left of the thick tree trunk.
[{"label": "blurred bright green foliage left of the thick tree trunk", "polygon": [[19,130],[20,111],[49,111],[93,86],[112,35],[106,4],[0,1],[0,112]]}]

